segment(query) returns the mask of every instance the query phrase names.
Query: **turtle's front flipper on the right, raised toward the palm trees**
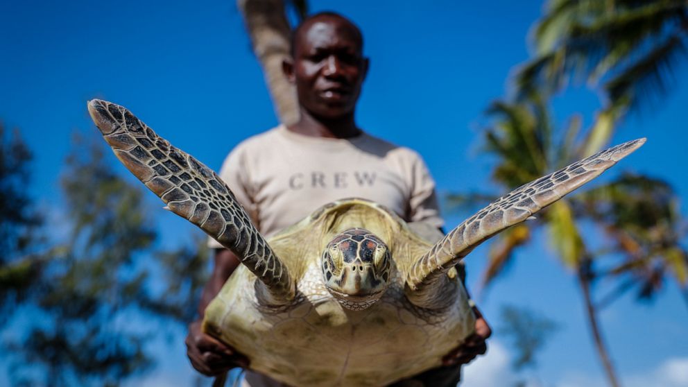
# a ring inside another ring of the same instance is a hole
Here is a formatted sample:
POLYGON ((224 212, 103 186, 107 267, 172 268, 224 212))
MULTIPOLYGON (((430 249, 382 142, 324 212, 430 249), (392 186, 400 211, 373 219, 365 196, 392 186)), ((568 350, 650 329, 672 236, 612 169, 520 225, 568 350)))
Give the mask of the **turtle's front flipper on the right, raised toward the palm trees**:
POLYGON ((420 307, 441 307, 445 275, 471 250, 494 234, 525 221, 567 193, 596 178, 634 150, 645 139, 614 146, 511 191, 481 209, 440 239, 409 270, 406 295, 420 307))

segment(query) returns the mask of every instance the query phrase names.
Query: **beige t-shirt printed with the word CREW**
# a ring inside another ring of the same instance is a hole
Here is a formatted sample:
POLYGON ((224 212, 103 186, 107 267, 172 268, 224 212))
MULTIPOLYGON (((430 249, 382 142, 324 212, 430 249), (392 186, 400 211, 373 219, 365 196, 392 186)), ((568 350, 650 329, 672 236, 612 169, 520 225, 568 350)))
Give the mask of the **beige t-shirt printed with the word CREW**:
POLYGON ((409 222, 442 226, 435 182, 420 155, 365 133, 328 139, 277 126, 236 146, 220 177, 265 236, 351 197, 380 203, 409 222))

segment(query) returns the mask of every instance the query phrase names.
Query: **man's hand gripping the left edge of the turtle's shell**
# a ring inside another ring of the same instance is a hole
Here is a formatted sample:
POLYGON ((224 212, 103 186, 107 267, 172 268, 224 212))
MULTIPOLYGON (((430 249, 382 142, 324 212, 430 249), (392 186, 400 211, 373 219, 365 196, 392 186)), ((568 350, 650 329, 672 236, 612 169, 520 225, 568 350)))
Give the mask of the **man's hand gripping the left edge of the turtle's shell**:
POLYGON ((231 368, 248 368, 246 356, 200 330, 200 321, 191 322, 186 341, 187 356, 193 368, 206 376, 222 375, 231 368))

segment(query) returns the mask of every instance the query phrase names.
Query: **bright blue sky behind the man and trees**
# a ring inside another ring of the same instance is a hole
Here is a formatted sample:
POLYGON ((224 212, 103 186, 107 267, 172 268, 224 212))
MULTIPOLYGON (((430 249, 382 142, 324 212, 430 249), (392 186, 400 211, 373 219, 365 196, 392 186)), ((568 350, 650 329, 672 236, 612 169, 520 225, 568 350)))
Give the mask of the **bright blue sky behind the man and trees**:
MULTIPOLYGON (((418 150, 441 192, 495 189, 489 180, 493 160, 477 151, 482 114, 506 94, 513 66, 528 58, 528 28, 542 3, 310 3, 313 11, 336 10, 351 17, 363 31, 371 68, 357 110, 359 125, 418 150)), ((277 123, 232 1, 3 1, 0 53, 0 119, 8 128, 19 128, 35 151, 31 191, 45 207, 60 204, 58 175, 71 133, 94 132, 86 112, 89 98, 125 105, 216 169, 235 144, 277 123)), ((686 69, 676 71, 676 87, 661 104, 623 123, 614 143, 637 137, 648 137, 648 142, 604 178, 624 169, 640 171, 669 180, 681 198, 688 195, 683 178, 688 166, 686 69)), ((596 95, 578 87, 556 99, 555 114, 563 121, 581 112, 588 125, 598 104, 596 95)), ((682 213, 688 214, 685 205, 682 213)), ((454 227, 461 218, 446 220, 447 227, 454 227)), ((191 230, 162 211, 160 227, 166 243, 175 243, 180 230, 191 230)), ((536 239, 547 245, 547 235, 536 239)), ((479 278, 487 248, 481 246, 467 259, 470 284, 479 278)), ((499 325, 499 309, 506 303, 542 311, 560 323, 540 354, 538 375, 548 386, 603 380, 574 277, 547 248, 519 252, 508 273, 482 293, 480 304, 492 325, 499 325)), ((623 298, 603 311, 601 322, 628 385, 642 386, 648 375, 673 377, 676 370, 678 379, 665 384, 688 384, 688 375, 680 371, 688 370, 688 309, 675 284, 666 286, 653 304, 623 298)), ((506 341, 496 334, 491 343, 488 356, 467 371, 472 385, 494 383, 485 375, 501 375, 501 381, 511 377, 506 341)), ((157 351, 166 356, 146 384, 190 383, 193 374, 181 338, 160 343, 157 351)), ((0 373, 3 383, 6 377, 0 373)))

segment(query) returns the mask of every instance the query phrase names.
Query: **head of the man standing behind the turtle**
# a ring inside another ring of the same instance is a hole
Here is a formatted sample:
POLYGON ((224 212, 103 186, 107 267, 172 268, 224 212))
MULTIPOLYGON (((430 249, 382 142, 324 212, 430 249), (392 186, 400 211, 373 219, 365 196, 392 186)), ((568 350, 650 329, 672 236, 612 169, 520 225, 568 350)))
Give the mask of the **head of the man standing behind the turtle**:
POLYGON ((291 53, 283 69, 302 109, 323 119, 354 112, 368 71, 358 27, 333 12, 310 16, 293 32, 291 53))

